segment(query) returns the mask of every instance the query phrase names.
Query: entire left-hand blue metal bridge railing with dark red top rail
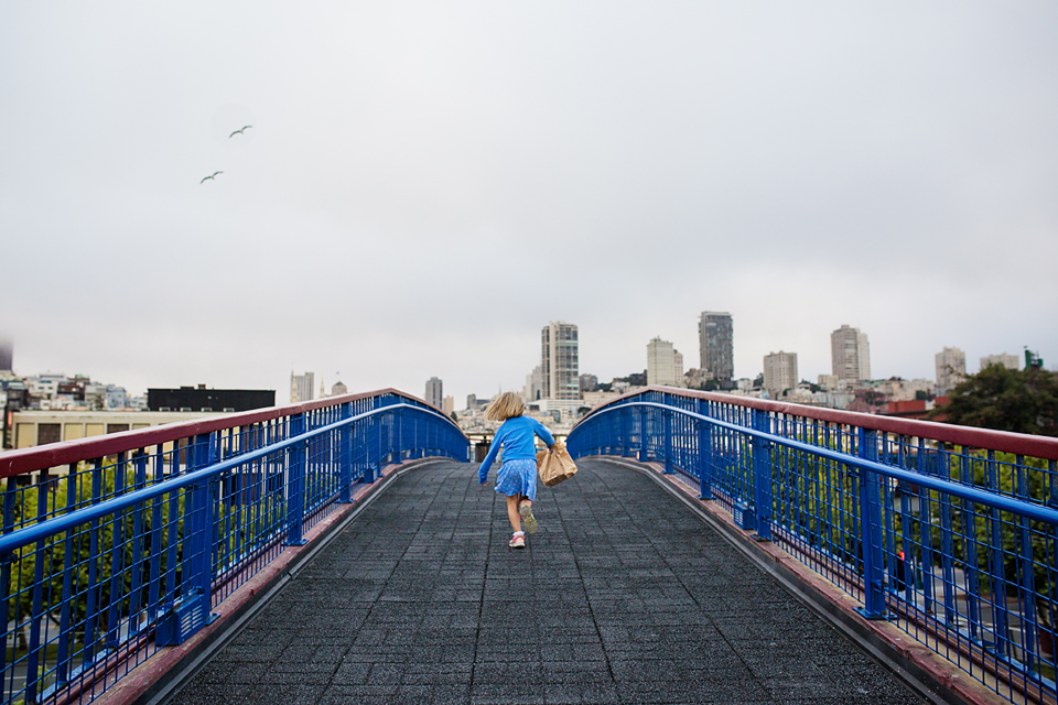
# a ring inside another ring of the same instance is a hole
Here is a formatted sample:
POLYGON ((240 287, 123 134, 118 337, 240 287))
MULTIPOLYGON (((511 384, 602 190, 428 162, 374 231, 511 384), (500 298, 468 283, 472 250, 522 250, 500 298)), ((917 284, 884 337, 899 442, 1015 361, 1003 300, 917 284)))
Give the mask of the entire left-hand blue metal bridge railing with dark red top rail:
POLYGON ((0 456, 0 702, 90 702, 386 465, 468 447, 387 390, 0 456))

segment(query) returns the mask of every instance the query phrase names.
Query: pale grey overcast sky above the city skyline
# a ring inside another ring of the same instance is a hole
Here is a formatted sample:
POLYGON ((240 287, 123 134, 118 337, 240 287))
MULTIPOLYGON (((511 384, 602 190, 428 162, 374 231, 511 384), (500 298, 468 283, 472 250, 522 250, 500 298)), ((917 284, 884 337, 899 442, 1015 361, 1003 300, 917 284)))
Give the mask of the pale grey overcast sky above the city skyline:
POLYGON ((0 4, 18 372, 462 408, 549 321, 697 366, 702 311, 737 377, 844 323, 876 378, 1058 362, 1052 0, 160 4, 0 4))

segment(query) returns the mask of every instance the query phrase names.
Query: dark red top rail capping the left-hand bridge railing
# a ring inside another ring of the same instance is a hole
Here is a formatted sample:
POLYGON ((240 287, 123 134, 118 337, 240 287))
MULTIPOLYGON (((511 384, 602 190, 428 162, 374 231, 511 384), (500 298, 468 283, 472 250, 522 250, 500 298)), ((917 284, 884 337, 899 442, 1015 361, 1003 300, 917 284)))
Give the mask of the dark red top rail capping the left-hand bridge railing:
MULTIPOLYGON (((341 397, 327 397, 299 404, 288 404, 285 406, 271 406, 268 409, 255 409, 253 411, 244 411, 223 416, 213 416, 209 419, 199 419, 194 421, 183 421, 179 423, 154 426, 151 429, 138 429, 136 431, 122 431, 104 436, 93 436, 89 438, 78 438, 76 441, 64 441, 61 443, 50 443, 47 445, 35 446, 32 448, 21 448, 0 454, 0 477, 11 477, 13 475, 23 475, 34 473, 42 468, 60 467, 79 460, 106 457, 136 451, 150 445, 171 443, 215 431, 226 429, 237 429, 239 426, 249 426, 256 423, 263 423, 274 419, 292 416, 316 409, 336 406, 360 399, 371 397, 382 397, 391 394, 402 397, 409 401, 415 402, 428 409, 438 412, 450 424, 458 429, 458 425, 449 416, 442 413, 435 406, 428 402, 412 397, 397 389, 387 388, 371 392, 361 392, 355 394, 342 394, 341 397)), ((462 431, 461 431, 462 433, 462 431)))

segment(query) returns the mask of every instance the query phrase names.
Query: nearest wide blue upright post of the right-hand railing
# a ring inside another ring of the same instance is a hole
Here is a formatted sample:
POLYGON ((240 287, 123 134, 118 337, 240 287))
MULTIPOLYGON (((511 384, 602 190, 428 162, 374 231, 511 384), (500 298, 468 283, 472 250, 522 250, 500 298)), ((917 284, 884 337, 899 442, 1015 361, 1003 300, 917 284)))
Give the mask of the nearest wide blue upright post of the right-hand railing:
MULTIPOLYGON (((865 460, 878 460, 878 432, 873 429, 859 429, 859 453, 865 460)), ((878 475, 860 468, 860 552, 863 554, 863 608, 861 615, 867 619, 885 619, 888 610, 885 606, 883 582, 885 570, 882 556, 882 497, 878 475)))

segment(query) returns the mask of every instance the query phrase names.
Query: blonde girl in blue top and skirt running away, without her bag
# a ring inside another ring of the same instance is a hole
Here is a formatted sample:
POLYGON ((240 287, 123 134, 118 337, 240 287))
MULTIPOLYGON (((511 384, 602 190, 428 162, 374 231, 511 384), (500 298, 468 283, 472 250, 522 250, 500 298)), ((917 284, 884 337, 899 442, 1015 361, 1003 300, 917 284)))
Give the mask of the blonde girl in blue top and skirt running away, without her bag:
POLYGON ((532 502, 537 498, 537 448, 533 436, 548 444, 554 445, 551 433, 543 424, 523 416, 526 404, 514 392, 504 392, 485 410, 485 417, 492 421, 503 421, 504 424, 496 431, 488 455, 477 471, 482 485, 488 480, 488 468, 493 466, 500 446, 504 448, 504 465, 496 473, 496 491, 507 496, 507 518, 515 534, 510 538, 511 549, 526 547, 526 533, 537 532, 537 520, 532 516, 532 502), (521 522, 526 528, 522 531, 521 522))

